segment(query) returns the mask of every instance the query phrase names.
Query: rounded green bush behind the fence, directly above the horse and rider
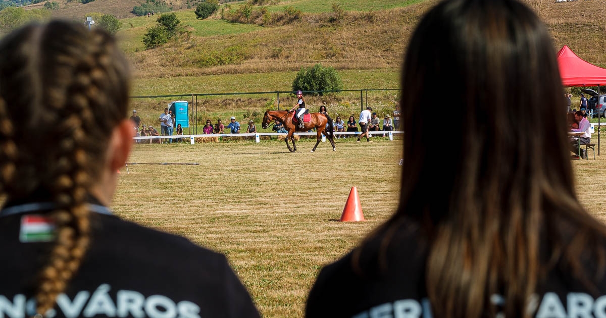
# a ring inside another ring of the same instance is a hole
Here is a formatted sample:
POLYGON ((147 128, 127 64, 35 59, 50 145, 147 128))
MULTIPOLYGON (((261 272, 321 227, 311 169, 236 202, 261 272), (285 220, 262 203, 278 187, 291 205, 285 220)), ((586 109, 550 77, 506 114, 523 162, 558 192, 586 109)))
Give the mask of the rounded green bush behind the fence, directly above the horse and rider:
MULTIPOLYGON (((302 67, 293 81, 294 90, 321 91, 341 90, 343 82, 335 68, 323 67, 322 64, 313 65, 311 68, 302 67)), ((323 93, 314 93, 322 95, 323 93)))

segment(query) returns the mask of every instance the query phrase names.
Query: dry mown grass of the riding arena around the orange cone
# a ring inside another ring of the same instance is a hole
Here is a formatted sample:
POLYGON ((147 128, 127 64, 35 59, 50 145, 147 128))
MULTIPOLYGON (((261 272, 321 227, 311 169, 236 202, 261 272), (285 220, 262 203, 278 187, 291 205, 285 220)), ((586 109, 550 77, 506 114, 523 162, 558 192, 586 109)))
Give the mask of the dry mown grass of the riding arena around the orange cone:
MULTIPOLYGON (((311 147, 312 140, 300 141, 298 153, 277 141, 136 145, 129 162, 138 164, 121 170, 113 209, 225 253, 264 317, 302 317, 322 265, 395 211, 405 169, 401 141, 339 140, 336 152, 326 142, 313 154, 311 147), (367 221, 337 222, 354 186, 367 221)), ((605 161, 573 162, 579 197, 602 221, 605 161)))

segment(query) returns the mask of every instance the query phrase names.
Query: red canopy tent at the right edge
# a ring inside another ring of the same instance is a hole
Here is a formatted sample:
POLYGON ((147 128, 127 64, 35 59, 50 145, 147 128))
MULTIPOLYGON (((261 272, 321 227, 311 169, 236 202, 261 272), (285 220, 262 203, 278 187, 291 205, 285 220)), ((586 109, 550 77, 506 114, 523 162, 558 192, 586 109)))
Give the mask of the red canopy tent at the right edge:
MULTIPOLYGON (((562 85, 565 87, 597 86, 599 96, 600 85, 606 84, 606 69, 583 61, 567 45, 558 52, 558 67, 562 85)), ((600 154, 600 124, 600 116, 598 116, 598 155, 600 154)))

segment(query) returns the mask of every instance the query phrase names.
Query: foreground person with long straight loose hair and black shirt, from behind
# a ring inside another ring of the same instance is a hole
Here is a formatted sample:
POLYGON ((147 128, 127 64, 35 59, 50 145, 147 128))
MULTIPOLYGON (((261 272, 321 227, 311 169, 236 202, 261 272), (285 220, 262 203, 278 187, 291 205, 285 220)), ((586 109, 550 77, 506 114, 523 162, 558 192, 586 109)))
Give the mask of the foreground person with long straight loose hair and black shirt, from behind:
POLYGON ((321 270, 306 317, 600 316, 606 227, 578 199, 545 24, 522 1, 444 0, 404 57, 399 207, 321 270), (422 105, 442 83, 456 111, 436 131, 422 105))

